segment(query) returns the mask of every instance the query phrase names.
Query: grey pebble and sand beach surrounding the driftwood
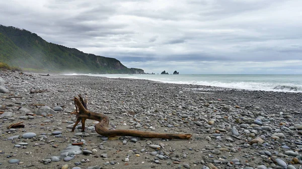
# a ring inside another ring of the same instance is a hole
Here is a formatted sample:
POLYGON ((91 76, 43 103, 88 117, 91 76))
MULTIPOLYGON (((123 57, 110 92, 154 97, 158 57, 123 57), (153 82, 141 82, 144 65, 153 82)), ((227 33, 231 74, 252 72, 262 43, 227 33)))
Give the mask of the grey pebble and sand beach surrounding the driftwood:
POLYGON ((0 98, 0 168, 302 168, 298 92, 0 71, 0 98), (192 138, 108 138, 90 119, 71 132, 79 94, 112 130, 192 138))

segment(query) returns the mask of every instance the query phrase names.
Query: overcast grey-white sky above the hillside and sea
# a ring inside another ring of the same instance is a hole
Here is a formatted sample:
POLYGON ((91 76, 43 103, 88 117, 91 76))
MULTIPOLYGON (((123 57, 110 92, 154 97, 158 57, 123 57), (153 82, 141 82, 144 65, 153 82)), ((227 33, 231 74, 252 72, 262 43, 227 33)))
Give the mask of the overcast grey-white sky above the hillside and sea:
POLYGON ((302 1, 0 1, 0 24, 147 73, 302 74, 302 1))

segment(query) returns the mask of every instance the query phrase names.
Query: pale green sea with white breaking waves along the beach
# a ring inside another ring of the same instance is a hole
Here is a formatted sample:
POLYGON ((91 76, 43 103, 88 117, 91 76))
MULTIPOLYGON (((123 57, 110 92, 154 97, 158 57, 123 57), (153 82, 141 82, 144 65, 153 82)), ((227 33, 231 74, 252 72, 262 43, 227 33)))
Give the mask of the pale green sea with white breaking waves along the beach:
POLYGON ((151 74, 66 74, 108 78, 146 79, 163 83, 194 84, 233 89, 302 92, 302 75, 151 75, 151 74))

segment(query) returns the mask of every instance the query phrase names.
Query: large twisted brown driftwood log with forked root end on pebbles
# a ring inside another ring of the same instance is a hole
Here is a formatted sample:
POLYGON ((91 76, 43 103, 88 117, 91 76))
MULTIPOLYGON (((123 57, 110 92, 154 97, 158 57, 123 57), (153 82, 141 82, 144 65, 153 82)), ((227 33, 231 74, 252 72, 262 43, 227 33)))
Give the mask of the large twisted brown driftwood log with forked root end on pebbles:
POLYGON ((167 139, 190 139, 192 134, 166 134, 166 133, 155 133, 147 131, 138 131, 138 130, 109 130, 109 118, 103 113, 95 113, 89 111, 87 108, 87 99, 83 99, 81 95, 74 97, 75 111, 71 114, 77 116, 77 121, 72 127, 72 132, 78 123, 82 122, 82 131, 85 131, 85 121, 86 119, 97 120, 98 124, 95 125, 95 130, 98 134, 108 137, 114 136, 133 136, 133 137, 142 137, 142 138, 167 138, 167 139))

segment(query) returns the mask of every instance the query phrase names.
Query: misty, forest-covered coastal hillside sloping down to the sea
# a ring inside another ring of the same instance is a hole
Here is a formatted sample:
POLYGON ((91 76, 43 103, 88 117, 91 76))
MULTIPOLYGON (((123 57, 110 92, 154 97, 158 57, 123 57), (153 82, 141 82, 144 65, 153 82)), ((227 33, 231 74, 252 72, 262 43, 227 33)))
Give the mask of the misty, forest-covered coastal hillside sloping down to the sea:
POLYGON ((11 66, 36 71, 144 74, 141 69, 125 67, 117 59, 48 43, 26 30, 0 25, 0 34, 0 59, 11 66))

